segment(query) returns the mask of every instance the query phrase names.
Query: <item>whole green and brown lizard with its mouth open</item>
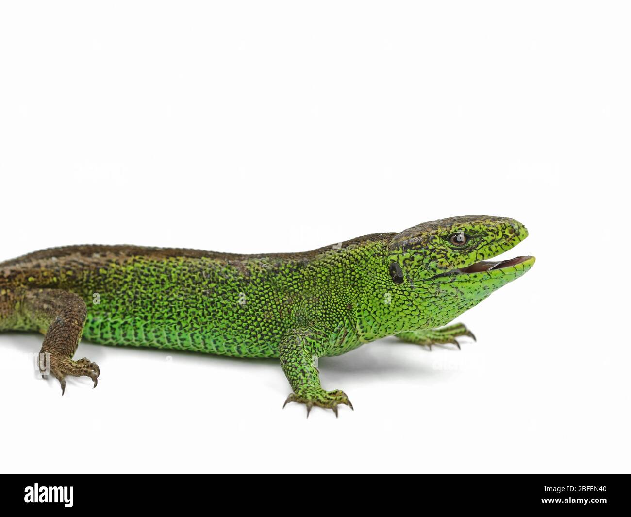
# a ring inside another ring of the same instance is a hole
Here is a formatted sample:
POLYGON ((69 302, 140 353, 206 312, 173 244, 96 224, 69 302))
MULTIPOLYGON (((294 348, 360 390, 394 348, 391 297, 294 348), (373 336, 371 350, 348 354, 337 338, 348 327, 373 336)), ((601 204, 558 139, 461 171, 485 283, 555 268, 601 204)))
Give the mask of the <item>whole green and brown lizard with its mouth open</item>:
POLYGON ((73 360, 81 336, 106 345, 274 357, 289 401, 352 408, 325 391, 317 358, 395 335, 421 345, 473 335, 439 328, 534 264, 490 262, 528 235, 503 217, 467 215, 373 234, 307 253, 240 255, 138 246, 67 246, 0 263, 0 331, 45 335, 40 368, 99 369, 73 360))

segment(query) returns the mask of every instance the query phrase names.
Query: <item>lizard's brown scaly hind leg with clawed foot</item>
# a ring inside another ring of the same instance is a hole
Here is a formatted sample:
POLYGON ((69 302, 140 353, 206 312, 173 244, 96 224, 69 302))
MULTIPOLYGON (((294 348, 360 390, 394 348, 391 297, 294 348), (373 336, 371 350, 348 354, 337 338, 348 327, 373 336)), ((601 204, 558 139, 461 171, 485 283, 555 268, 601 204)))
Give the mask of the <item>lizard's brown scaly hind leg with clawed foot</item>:
MULTIPOLYGON (((73 360, 81 340, 87 309, 77 294, 59 289, 29 290, 24 298, 24 311, 32 323, 45 334, 40 350, 40 371, 50 366, 50 373, 61 384, 61 395, 66 391, 66 377, 86 376, 97 387, 98 365, 90 360, 73 360), (50 354, 42 357, 42 354, 50 354)), ((44 376, 44 373, 42 373, 44 376)))

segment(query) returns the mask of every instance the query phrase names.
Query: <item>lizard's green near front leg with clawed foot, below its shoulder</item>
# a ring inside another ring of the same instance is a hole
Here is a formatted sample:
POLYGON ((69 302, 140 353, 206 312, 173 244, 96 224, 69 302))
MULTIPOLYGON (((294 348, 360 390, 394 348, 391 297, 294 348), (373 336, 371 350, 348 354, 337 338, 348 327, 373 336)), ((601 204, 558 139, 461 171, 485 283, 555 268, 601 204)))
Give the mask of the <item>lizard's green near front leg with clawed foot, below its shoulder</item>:
POLYGON ((280 365, 293 389, 293 393, 285 400, 285 405, 288 402, 305 404, 307 418, 314 406, 332 409, 336 417, 338 404, 346 404, 353 409, 346 393, 339 389, 324 391, 320 386, 315 362, 321 357, 325 338, 326 333, 313 326, 289 331, 280 343, 280 365))

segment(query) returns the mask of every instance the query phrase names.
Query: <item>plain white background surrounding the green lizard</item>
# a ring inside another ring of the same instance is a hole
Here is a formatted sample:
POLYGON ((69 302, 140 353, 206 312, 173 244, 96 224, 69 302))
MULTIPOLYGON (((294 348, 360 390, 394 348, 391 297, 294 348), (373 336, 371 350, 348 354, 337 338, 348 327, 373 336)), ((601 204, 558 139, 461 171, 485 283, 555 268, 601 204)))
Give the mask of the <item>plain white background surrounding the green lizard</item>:
POLYGON ((627 6, 3 2, 0 259, 306 251, 488 213, 537 263, 459 318, 462 352, 322 359, 338 420, 281 410, 273 360, 90 343, 98 388, 62 398, 42 336, 3 334, 1 470, 628 472, 627 6))

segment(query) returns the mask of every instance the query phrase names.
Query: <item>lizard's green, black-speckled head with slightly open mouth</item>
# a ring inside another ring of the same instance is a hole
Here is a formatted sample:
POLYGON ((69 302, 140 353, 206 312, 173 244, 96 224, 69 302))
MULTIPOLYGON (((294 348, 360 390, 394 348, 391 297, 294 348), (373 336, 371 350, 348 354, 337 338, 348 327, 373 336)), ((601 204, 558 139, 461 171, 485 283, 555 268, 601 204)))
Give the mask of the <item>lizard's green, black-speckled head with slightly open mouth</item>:
POLYGON ((431 221, 391 238, 387 267, 393 283, 422 295, 425 302, 440 302, 449 309, 451 321, 533 266, 532 256, 487 260, 526 237, 522 223, 505 217, 463 215, 431 221))

